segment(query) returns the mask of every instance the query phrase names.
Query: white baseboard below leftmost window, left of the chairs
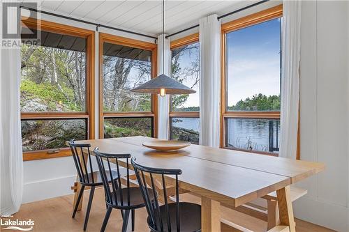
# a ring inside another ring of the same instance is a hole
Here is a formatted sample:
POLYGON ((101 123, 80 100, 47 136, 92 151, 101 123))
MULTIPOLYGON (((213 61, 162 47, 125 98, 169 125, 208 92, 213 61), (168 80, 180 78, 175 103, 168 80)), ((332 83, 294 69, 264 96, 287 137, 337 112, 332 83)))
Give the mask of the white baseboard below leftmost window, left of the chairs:
POLYGON ((73 185, 75 180, 76 176, 73 175, 25 183, 22 203, 41 201, 57 196, 73 194, 73 190, 70 190, 70 186, 73 185))

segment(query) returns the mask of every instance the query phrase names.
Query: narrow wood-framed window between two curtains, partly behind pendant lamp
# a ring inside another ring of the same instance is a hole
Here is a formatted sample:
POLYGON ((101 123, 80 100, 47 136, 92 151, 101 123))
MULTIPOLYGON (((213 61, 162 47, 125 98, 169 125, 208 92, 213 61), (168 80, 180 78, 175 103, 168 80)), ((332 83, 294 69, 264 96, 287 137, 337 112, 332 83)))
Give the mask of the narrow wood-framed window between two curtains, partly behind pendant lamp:
POLYGON ((170 139, 199 143, 200 44, 198 33, 171 42, 171 77, 193 88, 196 93, 172 95, 170 139))

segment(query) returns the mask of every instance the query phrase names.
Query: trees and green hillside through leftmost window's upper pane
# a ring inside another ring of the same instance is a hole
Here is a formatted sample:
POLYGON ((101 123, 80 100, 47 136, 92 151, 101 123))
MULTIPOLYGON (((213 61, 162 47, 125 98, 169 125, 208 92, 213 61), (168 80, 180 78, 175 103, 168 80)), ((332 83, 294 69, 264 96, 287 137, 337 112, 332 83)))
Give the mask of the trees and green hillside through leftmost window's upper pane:
POLYGON ((36 111, 34 99, 47 111, 84 111, 85 63, 85 52, 22 45, 22 106, 36 111))

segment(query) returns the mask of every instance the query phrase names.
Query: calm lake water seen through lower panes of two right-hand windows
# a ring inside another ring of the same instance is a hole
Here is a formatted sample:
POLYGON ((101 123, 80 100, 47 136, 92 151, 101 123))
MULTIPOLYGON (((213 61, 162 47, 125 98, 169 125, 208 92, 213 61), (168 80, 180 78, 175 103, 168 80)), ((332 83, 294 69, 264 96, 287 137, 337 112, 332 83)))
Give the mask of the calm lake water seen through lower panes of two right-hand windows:
MULTIPOLYGON (((272 121, 273 147, 279 147, 280 121, 269 119, 251 118, 228 118, 225 122, 227 127, 228 146, 236 148, 269 150, 269 122, 272 121)), ((173 118, 174 127, 182 127, 189 130, 199 131, 199 118, 173 118)))

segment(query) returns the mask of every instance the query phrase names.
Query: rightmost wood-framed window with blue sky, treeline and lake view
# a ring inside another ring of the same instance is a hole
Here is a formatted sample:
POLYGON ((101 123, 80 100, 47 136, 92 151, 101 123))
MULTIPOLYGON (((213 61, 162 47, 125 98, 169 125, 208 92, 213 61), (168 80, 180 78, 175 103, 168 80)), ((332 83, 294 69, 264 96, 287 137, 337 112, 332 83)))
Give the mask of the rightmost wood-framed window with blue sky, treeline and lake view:
POLYGON ((222 25, 223 147, 277 155, 282 6, 222 25))

